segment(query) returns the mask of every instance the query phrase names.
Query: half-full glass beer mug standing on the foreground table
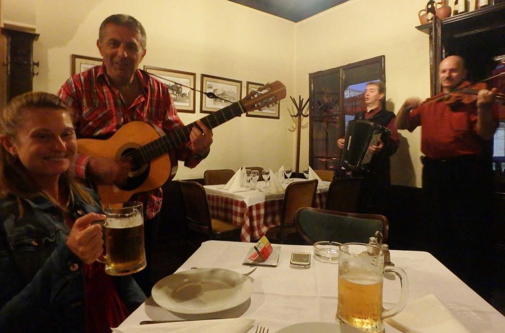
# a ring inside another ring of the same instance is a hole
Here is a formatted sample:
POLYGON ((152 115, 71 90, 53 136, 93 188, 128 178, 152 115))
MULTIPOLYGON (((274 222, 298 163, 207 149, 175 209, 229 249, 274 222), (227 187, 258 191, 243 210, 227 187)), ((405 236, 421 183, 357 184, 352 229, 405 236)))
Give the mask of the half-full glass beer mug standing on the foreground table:
POLYGON ((392 266, 384 268, 384 253, 379 247, 360 243, 339 247, 337 321, 366 332, 383 332, 382 319, 403 310, 408 289, 405 271, 392 266), (399 302, 388 310, 382 307, 384 274, 398 276, 401 285, 399 302))

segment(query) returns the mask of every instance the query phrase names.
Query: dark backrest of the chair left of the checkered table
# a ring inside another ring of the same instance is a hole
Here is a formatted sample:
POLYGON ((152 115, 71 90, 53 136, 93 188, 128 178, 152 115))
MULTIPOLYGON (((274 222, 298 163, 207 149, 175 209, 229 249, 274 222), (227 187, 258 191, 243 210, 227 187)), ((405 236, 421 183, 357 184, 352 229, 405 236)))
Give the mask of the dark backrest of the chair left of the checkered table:
POLYGON ((181 186, 186 217, 193 229, 212 236, 212 219, 205 188, 196 181, 177 181, 181 186))

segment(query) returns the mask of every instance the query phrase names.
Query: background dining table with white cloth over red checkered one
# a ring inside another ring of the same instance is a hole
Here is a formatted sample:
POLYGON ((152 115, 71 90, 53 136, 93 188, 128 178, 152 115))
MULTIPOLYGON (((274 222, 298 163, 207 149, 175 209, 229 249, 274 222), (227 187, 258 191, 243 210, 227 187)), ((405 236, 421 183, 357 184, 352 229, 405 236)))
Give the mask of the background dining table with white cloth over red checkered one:
MULTIPOLYGON (((304 181, 304 178, 291 178, 282 184, 285 189, 291 182, 304 181)), ((321 181, 314 199, 315 208, 324 208, 328 196, 329 181, 321 181)), ((268 229, 279 225, 282 214, 284 192, 269 193, 265 181, 258 181, 256 189, 243 188, 232 192, 225 185, 205 185, 207 201, 213 218, 219 218, 240 226, 242 242, 255 242, 264 236, 268 229)))

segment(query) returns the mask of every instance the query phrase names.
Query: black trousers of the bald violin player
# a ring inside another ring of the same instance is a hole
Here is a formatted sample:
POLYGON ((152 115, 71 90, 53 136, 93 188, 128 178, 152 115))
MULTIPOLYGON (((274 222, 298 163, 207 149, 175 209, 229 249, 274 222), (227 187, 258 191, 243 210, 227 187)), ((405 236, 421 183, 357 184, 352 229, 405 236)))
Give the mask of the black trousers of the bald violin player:
POLYGON ((491 249, 493 182, 490 158, 426 157, 423 193, 426 249, 479 292, 491 249))

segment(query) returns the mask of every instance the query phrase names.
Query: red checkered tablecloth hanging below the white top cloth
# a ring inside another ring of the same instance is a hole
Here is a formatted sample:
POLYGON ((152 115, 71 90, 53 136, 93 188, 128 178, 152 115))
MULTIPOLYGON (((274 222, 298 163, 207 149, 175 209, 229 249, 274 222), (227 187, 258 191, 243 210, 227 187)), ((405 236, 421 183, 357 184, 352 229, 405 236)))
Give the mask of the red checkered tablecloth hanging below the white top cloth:
MULTIPOLYGON (((316 194, 314 207, 324 208, 328 192, 316 194)), ((267 230, 279 225, 282 200, 269 200, 247 206, 245 202, 219 195, 207 195, 211 216, 242 227, 242 242, 259 240, 267 230)))

